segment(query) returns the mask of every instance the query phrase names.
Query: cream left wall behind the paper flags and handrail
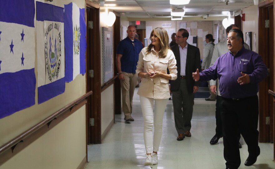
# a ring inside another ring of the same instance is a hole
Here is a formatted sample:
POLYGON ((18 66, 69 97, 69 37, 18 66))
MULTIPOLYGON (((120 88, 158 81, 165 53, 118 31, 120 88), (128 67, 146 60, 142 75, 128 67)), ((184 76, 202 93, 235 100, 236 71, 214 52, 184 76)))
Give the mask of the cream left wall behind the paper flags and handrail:
MULTIPOLYGON (((64 4, 72 2, 72 0, 55 0, 53 2, 48 2, 46 0, 39 1, 60 7, 64 7, 64 4)), ((85 0, 73 0, 73 2, 75 2, 78 7, 85 8, 85 0)), ((35 32, 37 32, 36 28, 35 32)), ((35 72, 37 79, 37 56, 35 61, 35 72)), ((85 93, 86 75, 78 75, 75 80, 66 83, 65 92, 63 94, 42 104, 37 104, 36 86, 35 105, 0 119, 0 145, 5 144, 85 93)), ((48 133, 0 166, 0 169, 68 169, 72 166, 76 168, 86 156, 85 116, 86 109, 85 106, 83 106, 75 114, 63 120, 48 133)))

